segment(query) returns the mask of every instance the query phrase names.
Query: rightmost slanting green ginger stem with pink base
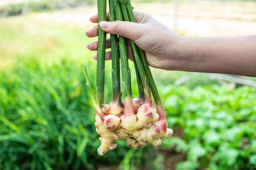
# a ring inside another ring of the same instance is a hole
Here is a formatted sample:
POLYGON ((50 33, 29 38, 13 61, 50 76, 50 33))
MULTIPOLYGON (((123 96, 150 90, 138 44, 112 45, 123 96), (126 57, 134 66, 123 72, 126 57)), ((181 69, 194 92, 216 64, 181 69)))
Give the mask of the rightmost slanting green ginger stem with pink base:
MULTIPOLYGON (((126 9, 128 11, 129 20, 131 22, 136 22, 134 14, 133 14, 133 10, 132 10, 131 1, 130 0, 125 0, 125 2, 126 2, 126 9)), ((158 90, 156 88, 156 84, 154 82, 154 78, 153 78, 152 73, 150 71, 150 68, 148 66, 148 61, 146 59, 146 55, 145 55, 144 51, 142 49, 140 49, 139 47, 138 47, 138 51, 140 53, 142 65, 143 65, 143 68, 145 70, 146 77, 148 79, 148 83, 149 83, 150 90, 152 92, 152 96, 154 98, 154 101, 156 102, 156 105, 158 105, 160 108, 162 108, 161 111, 160 110, 158 111, 159 116, 160 116, 159 119, 160 120, 166 119, 166 114, 165 114, 165 111, 164 111, 164 107, 163 107, 160 95, 158 93, 158 90)))

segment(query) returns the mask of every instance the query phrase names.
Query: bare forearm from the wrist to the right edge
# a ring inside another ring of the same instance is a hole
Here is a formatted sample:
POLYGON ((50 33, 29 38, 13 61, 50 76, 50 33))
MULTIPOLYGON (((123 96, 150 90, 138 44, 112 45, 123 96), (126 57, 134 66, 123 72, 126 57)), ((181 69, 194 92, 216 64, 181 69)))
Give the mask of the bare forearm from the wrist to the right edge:
POLYGON ((177 44, 170 69, 256 76, 256 35, 188 38, 177 44))

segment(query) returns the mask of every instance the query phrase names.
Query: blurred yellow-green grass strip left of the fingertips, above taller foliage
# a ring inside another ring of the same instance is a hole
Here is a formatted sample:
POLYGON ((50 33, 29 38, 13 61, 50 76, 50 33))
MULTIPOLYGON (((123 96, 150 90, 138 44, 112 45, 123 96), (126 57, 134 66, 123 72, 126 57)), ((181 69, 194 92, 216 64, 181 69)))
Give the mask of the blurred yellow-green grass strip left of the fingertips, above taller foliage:
POLYGON ((14 63, 16 57, 39 58, 44 62, 58 61, 60 57, 85 61, 86 57, 93 54, 85 48, 90 42, 84 35, 85 29, 42 23, 37 25, 37 22, 32 21, 20 24, 11 21, 2 21, 0 24, 0 56, 4 59, 14 59, 14 63))

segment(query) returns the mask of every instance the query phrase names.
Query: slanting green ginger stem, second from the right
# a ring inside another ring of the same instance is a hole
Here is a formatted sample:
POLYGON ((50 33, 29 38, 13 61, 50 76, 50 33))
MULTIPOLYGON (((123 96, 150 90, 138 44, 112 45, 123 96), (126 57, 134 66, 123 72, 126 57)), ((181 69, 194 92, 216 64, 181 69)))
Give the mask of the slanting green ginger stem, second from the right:
MULTIPOLYGON (((130 21, 129 17, 128 17, 127 10, 126 10, 126 3, 122 1, 121 5, 122 5, 122 12, 123 12, 123 15, 124 15, 124 20, 125 21, 130 21)), ((133 57, 133 61, 134 61, 134 67, 135 67, 135 70, 137 69, 136 70, 136 75, 138 75, 141 78, 140 81, 143 85, 143 88, 145 88, 146 91, 148 92, 148 94, 150 94, 150 88, 149 88, 149 85, 148 85, 148 80, 146 78, 146 74, 144 72, 142 62, 140 60, 140 54, 139 54, 139 51, 138 51, 138 47, 134 43, 134 41, 132 41, 131 39, 130 39, 130 44, 131 44, 132 52, 133 52, 132 57, 133 57)), ((148 96, 148 95, 146 95, 146 96, 148 96)))

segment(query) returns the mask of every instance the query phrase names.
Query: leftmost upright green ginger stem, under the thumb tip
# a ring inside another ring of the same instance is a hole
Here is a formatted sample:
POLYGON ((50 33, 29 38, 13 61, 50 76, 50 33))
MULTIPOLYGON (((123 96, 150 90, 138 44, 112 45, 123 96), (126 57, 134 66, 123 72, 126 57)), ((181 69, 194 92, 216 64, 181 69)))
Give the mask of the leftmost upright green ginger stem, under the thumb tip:
MULTIPOLYGON (((97 0, 98 23, 106 21, 106 0, 97 0)), ((98 27, 96 103, 99 107, 104 103, 106 32, 98 27)))

